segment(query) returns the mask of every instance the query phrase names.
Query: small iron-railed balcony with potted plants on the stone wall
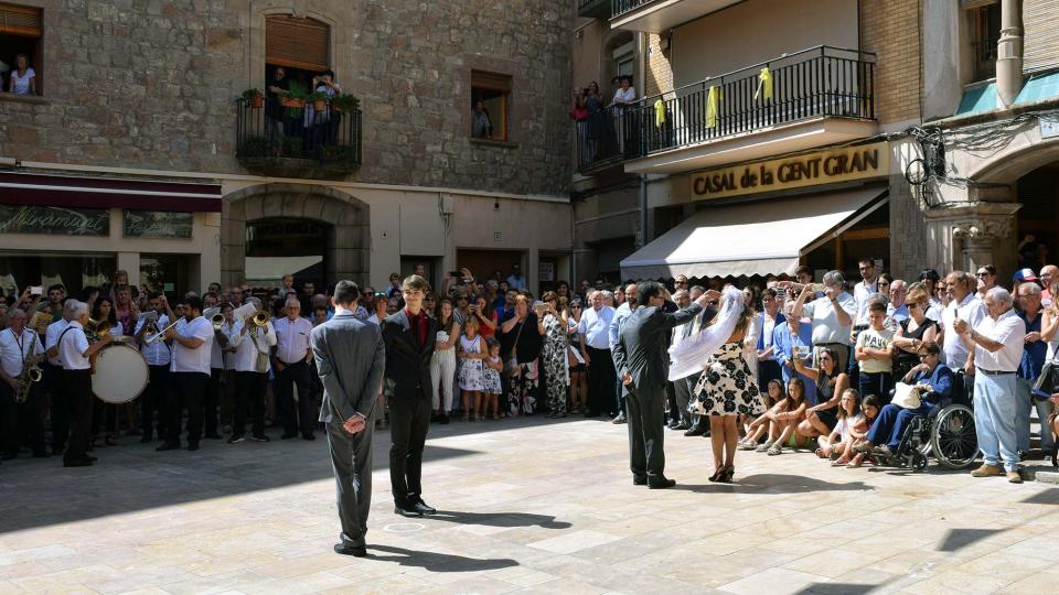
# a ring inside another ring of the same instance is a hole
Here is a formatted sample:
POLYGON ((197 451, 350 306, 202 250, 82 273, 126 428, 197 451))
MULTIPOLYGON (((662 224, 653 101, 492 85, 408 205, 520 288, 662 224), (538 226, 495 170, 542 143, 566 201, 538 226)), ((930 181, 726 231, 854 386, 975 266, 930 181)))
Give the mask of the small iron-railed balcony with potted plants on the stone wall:
POLYGON ((235 156, 244 167, 278 177, 332 178, 361 165, 360 109, 330 101, 286 104, 236 101, 235 156))

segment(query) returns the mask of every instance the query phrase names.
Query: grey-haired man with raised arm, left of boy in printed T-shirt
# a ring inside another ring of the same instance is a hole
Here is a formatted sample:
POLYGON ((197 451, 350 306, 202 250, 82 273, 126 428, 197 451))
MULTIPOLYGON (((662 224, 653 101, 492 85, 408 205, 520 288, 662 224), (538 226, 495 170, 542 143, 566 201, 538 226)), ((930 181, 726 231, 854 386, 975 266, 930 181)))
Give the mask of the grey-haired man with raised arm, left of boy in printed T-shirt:
POLYGON ((857 314, 857 302, 845 291, 846 279, 841 271, 827 271, 824 274, 824 296, 805 303, 813 294, 811 285, 784 281, 783 286, 801 290, 791 315, 813 321, 813 360, 823 349, 833 349, 838 354, 838 370, 849 367, 849 337, 853 317, 857 314))

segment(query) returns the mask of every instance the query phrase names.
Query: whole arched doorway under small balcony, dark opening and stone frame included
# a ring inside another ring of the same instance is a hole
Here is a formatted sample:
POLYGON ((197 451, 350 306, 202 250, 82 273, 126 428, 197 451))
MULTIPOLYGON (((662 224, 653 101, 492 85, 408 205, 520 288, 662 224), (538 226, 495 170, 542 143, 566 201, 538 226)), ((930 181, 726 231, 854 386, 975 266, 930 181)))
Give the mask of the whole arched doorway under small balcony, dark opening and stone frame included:
POLYGON ((284 274, 318 288, 340 279, 367 282, 370 213, 356 197, 325 186, 261 184, 225 196, 225 283, 271 283, 284 274))

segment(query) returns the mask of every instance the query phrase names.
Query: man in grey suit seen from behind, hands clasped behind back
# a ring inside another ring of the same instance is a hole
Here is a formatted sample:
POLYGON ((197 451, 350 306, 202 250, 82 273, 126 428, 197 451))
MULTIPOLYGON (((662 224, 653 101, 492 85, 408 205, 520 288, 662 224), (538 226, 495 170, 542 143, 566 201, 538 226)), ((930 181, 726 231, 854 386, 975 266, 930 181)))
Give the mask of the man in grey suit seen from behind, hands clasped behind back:
POLYGON ((334 551, 364 558, 372 507, 372 434, 386 348, 378 326, 354 316, 360 294, 356 283, 339 281, 331 299, 334 316, 313 328, 310 338, 323 383, 320 421, 328 429, 342 522, 334 551))

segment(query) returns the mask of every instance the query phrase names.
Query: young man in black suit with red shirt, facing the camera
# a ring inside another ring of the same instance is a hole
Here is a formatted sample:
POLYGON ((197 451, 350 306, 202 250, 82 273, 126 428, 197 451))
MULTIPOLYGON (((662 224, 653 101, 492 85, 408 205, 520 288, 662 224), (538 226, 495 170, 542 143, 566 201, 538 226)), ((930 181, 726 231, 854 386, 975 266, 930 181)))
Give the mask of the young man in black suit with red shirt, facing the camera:
POLYGON ((430 426, 430 358, 438 323, 422 310, 427 282, 418 274, 402 282, 405 309, 383 321, 386 374, 383 392, 389 404, 389 483, 394 512, 421 517, 437 512, 422 501, 422 450, 430 426))

